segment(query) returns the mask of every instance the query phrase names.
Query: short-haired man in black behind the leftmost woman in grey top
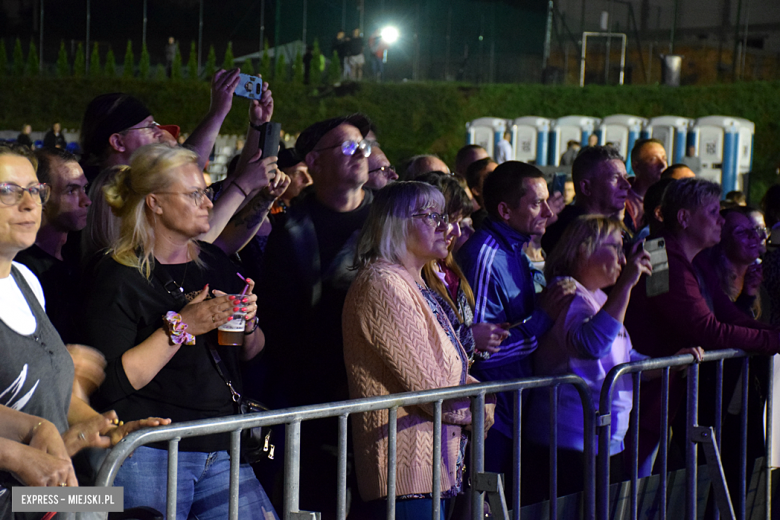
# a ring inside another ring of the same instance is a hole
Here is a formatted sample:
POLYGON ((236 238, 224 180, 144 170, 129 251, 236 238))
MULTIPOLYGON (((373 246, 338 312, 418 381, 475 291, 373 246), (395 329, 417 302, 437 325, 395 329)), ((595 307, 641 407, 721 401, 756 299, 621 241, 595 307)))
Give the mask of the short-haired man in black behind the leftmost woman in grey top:
POLYGON ((43 206, 35 244, 16 260, 35 273, 46 297, 46 314, 65 343, 77 343, 76 312, 79 305, 78 234, 87 223, 87 178, 76 157, 60 148, 35 151, 38 180, 51 195, 43 206), (72 240, 69 240, 72 239, 72 240))

